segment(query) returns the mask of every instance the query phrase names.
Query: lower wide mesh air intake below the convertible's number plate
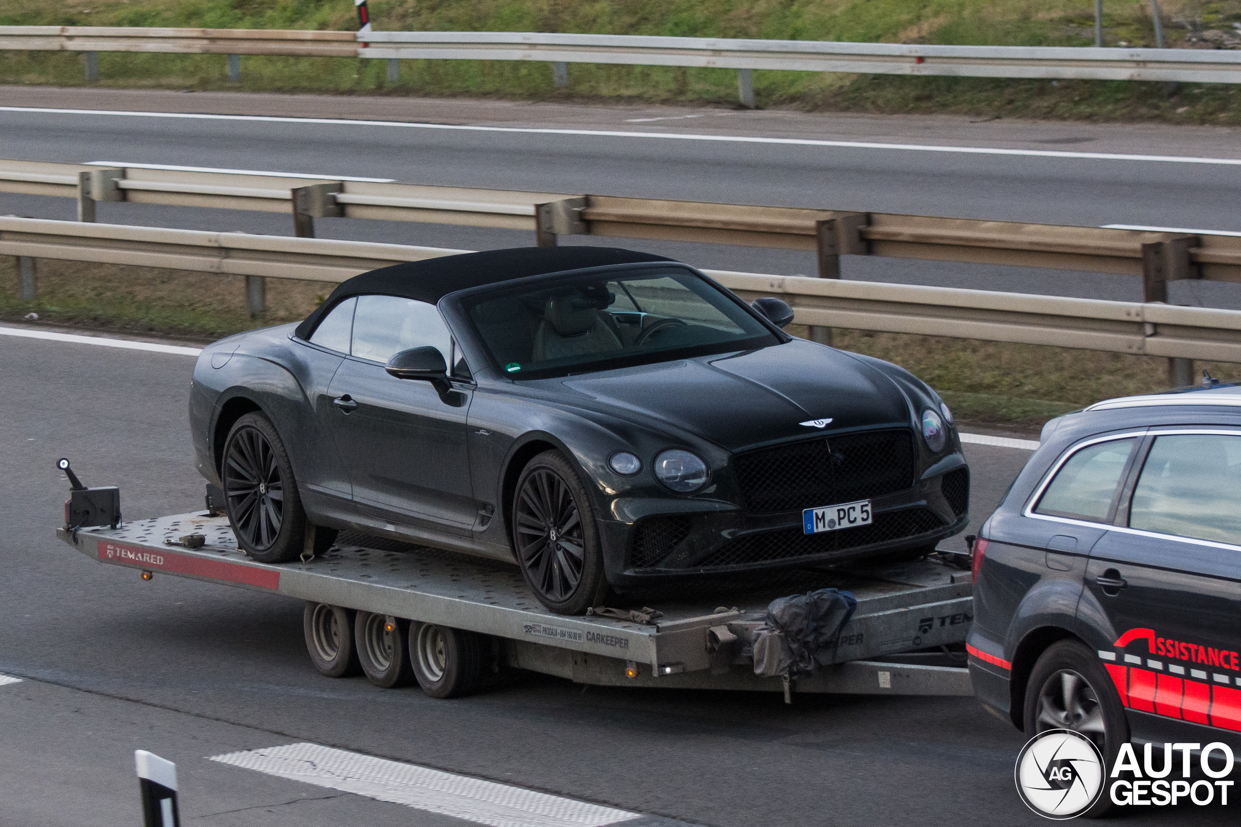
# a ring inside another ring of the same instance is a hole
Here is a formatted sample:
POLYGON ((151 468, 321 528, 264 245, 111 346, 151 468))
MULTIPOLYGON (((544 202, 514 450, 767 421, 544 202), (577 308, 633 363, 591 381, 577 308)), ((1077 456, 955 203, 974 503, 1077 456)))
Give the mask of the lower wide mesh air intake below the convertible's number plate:
POLYGON ((875 515, 869 526, 829 531, 818 534, 805 534, 799 528, 782 528, 761 534, 740 537, 726 543, 720 551, 711 553, 695 565, 740 565, 742 563, 763 563, 767 560, 786 560, 810 554, 825 554, 850 548, 861 548, 872 543, 885 543, 906 537, 926 534, 943 527, 933 511, 927 508, 905 508, 875 515))

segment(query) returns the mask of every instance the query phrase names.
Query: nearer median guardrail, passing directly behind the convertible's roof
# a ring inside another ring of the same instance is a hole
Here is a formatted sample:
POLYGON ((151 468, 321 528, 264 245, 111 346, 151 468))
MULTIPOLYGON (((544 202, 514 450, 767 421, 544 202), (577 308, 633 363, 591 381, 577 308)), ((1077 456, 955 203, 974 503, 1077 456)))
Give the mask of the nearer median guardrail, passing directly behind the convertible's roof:
MULTIPOLYGON (((340 281, 465 250, 0 218, 0 255, 340 281)), ((1241 362, 1241 311, 706 270, 751 299, 783 298, 803 325, 1241 362)), ((253 284, 251 284, 253 295, 253 284)))

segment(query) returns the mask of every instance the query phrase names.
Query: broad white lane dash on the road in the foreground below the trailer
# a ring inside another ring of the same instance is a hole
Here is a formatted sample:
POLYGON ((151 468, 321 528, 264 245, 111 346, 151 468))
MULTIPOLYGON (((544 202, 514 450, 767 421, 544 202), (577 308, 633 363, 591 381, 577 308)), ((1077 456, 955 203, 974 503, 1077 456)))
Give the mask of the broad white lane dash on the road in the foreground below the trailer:
POLYGON ((490 827, 602 827, 640 817, 624 810, 318 744, 271 746, 215 755, 210 760, 490 827))

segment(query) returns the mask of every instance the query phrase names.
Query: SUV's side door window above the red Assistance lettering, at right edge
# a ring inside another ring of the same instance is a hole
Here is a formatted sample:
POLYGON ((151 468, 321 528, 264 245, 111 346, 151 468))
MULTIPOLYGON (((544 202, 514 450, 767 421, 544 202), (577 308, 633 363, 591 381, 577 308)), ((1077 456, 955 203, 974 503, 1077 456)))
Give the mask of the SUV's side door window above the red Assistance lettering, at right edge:
POLYGON ((1241 435, 1157 436, 1129 528, 1241 546, 1241 435))

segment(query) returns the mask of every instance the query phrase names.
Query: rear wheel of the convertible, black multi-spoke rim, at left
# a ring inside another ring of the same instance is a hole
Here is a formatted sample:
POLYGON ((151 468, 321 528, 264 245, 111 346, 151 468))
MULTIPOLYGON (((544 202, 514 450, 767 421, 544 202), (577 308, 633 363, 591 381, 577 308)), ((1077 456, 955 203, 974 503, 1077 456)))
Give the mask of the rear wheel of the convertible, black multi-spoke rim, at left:
POLYGON ((259 563, 297 559, 307 515, 293 464, 272 422, 252 412, 233 423, 221 465, 225 507, 237 546, 259 563))

